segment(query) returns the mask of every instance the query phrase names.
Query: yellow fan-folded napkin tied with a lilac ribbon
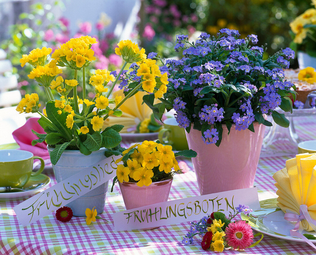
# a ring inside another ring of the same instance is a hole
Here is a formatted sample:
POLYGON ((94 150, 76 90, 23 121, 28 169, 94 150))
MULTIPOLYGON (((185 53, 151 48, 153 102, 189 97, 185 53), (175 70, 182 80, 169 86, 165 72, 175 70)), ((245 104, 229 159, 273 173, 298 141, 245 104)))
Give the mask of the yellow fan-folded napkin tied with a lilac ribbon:
MULTIPOLYGON (((307 205, 308 214, 316 220, 316 153, 298 154, 286 161, 285 168, 273 175, 277 187, 277 206, 286 213, 300 215, 300 205, 307 205)), ((313 231, 306 219, 300 221, 300 228, 313 231)))

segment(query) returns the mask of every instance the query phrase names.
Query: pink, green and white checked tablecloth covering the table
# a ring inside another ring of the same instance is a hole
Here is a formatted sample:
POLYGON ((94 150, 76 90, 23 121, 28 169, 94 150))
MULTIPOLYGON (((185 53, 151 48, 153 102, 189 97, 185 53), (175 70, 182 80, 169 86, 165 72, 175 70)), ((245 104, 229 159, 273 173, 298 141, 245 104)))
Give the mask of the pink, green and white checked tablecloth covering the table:
MULTIPOLYGON (((297 117, 295 124, 302 140, 316 139, 316 120, 313 116, 297 117)), ((276 197, 272 175, 284 167, 288 158, 275 157, 272 151, 270 157, 260 158, 255 179, 260 200, 276 197)), ((185 162, 191 170, 175 176, 169 200, 199 195, 191 161, 185 162)), ((48 175, 52 178, 51 185, 55 184, 52 172, 48 175)), ((219 175, 216 178, 224 177, 219 175)), ((108 223, 97 220, 87 226, 84 217, 73 217, 70 222, 62 223, 50 214, 23 228, 12 210, 13 206, 22 201, 0 201, 1 255, 207 254, 198 242, 192 246, 181 244, 181 237, 187 232, 189 222, 147 231, 114 232, 112 215, 125 210, 118 185, 114 187, 113 193, 107 193, 105 212, 101 215, 109 220, 108 223)), ((316 251, 310 246, 292 244, 265 235, 258 246, 246 252, 225 250, 223 254, 306 255, 316 254, 316 251)))

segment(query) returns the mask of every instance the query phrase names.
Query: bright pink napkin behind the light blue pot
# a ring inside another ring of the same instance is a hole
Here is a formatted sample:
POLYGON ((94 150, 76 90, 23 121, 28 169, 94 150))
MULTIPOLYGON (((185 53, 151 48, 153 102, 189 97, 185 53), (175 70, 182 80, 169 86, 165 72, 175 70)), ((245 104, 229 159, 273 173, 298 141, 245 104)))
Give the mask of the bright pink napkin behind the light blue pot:
POLYGON ((38 156, 45 159, 49 159, 49 154, 47 151, 46 142, 37 143, 32 146, 32 141, 38 139, 38 137, 33 134, 32 129, 40 134, 44 134, 44 129, 37 122, 39 118, 29 118, 26 123, 12 132, 13 138, 16 143, 20 145, 20 150, 30 151, 34 156, 38 156))

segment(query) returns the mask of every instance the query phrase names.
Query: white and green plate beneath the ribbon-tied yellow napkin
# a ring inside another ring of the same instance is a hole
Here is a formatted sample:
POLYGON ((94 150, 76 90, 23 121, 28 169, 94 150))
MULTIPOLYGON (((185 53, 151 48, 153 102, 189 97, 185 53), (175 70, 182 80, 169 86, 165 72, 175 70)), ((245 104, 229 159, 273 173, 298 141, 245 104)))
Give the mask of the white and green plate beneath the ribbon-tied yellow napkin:
MULTIPOLYGON (((249 216, 241 214, 241 219, 246 220, 252 229, 267 234, 287 242, 308 245, 304 240, 298 237, 292 237, 290 230, 294 228, 294 223, 284 219, 284 212, 276 206, 276 199, 260 201, 261 210, 252 212, 249 216), (257 218, 258 217, 258 218, 257 218)), ((312 234, 316 236, 315 231, 305 231, 302 234, 312 234)), ((310 240, 316 244, 316 240, 310 240)))

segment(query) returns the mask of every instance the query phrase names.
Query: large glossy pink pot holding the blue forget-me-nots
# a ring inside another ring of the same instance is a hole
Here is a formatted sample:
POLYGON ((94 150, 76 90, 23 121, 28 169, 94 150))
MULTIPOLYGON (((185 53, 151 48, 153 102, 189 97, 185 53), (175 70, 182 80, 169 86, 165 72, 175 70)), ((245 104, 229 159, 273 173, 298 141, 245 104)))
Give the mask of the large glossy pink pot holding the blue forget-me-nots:
POLYGON ((201 131, 192 127, 186 133, 189 148, 197 152, 192 163, 201 195, 253 187, 265 129, 258 122, 253 126, 255 133, 235 130, 233 125, 228 135, 226 125, 222 125, 219 147, 204 144, 201 131))

